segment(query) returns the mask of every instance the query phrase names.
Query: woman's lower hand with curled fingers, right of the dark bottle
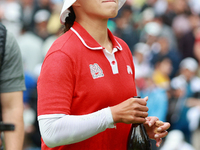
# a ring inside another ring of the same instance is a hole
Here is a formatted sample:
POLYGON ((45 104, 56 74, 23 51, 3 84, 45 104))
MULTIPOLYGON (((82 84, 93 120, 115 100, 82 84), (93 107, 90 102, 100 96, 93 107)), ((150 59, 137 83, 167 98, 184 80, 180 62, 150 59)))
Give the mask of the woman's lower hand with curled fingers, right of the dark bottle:
POLYGON ((156 121, 159 121, 157 117, 147 117, 144 126, 149 138, 156 140, 156 146, 159 147, 162 138, 168 134, 166 130, 169 129, 170 124, 168 122, 163 122, 158 126, 156 125, 156 121))

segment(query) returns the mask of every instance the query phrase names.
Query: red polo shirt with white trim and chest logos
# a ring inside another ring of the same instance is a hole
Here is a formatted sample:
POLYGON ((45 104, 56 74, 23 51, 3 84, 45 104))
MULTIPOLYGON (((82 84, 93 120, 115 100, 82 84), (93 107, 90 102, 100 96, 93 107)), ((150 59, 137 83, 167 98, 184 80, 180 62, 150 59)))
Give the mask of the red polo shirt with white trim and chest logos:
MULTIPOLYGON (((48 51, 38 79, 38 115, 83 115, 136 95, 134 65, 127 44, 114 37, 108 53, 77 22, 48 51)), ((118 123, 75 144, 42 150, 125 150, 130 125, 118 123)))

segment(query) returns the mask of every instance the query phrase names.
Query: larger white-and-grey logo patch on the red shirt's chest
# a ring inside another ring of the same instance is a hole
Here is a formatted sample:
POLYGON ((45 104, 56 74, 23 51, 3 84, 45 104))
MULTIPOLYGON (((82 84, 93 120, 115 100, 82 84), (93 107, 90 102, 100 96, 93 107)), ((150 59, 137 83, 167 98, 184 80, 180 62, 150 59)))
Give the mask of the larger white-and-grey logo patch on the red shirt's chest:
POLYGON ((94 63, 93 65, 90 65, 90 72, 92 74, 93 79, 103 77, 103 70, 99 67, 97 63, 94 63))

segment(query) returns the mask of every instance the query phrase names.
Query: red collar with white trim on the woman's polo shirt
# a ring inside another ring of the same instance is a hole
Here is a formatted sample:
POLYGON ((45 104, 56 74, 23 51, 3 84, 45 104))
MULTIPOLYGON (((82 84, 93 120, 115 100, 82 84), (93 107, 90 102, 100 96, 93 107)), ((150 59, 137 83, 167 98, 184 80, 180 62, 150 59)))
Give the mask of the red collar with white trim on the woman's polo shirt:
MULTIPOLYGON (((104 49, 79 23, 76 21, 74 22, 74 25, 70 28, 81 40, 83 45, 85 45, 87 48, 91 50, 101 50, 104 49)), ((118 50, 122 50, 121 45, 116 40, 112 32, 108 29, 108 36, 110 37, 110 40, 112 41, 113 48, 117 48, 118 50)))

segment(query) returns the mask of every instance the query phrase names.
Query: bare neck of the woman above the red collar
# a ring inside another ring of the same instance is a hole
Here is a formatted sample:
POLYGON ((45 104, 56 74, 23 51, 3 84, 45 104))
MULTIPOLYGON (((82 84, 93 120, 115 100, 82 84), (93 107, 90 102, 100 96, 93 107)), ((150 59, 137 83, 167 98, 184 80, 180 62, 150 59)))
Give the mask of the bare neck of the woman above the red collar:
POLYGON ((102 46, 112 52, 112 42, 108 37, 107 19, 79 19, 76 21, 102 46))

